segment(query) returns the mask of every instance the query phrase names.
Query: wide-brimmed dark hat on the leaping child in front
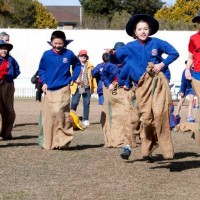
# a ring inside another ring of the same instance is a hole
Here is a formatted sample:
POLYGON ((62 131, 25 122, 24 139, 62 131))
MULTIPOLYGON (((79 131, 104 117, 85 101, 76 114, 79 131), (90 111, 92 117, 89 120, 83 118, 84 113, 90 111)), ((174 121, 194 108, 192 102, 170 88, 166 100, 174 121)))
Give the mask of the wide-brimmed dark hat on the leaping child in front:
POLYGON ((128 23, 126 24, 126 33, 133 37, 135 36, 133 27, 140 21, 140 20, 145 20, 145 21, 149 21, 151 23, 151 32, 149 35, 153 35, 155 34, 158 29, 159 29, 159 23, 156 19, 154 19, 152 16, 147 15, 147 14, 138 14, 138 15, 134 15, 132 16, 128 23))

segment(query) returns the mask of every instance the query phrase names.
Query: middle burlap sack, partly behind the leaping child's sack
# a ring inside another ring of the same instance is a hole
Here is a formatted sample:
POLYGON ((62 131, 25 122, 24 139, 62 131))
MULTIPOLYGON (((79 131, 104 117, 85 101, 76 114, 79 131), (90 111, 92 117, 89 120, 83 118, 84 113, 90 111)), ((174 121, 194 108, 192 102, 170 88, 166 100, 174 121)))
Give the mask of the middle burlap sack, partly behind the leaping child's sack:
POLYGON ((138 115, 132 104, 131 91, 117 87, 115 92, 109 92, 104 87, 104 105, 101 114, 101 124, 104 133, 104 147, 136 146, 135 127, 138 127, 138 115), (131 100, 130 100, 131 99, 131 100), (136 115, 136 118, 132 118, 136 115), (136 121, 136 122, 135 122, 136 121))

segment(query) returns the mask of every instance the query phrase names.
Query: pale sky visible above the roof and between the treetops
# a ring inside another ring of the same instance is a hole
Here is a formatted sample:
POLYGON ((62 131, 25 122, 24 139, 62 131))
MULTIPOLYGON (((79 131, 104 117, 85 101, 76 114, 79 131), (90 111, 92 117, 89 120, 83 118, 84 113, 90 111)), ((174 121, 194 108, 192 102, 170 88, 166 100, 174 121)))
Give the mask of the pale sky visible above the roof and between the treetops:
MULTIPOLYGON (((167 5, 173 5, 176 0, 162 0, 167 5)), ((79 0, 39 0, 40 3, 47 6, 80 6, 79 0)))

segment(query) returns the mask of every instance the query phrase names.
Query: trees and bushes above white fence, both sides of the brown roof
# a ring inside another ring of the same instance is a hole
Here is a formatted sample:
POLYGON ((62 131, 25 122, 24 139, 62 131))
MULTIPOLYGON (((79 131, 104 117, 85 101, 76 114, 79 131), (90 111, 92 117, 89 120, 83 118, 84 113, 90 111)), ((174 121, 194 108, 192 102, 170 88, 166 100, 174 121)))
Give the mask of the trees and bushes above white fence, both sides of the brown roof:
MULTIPOLYGON (((133 14, 149 14, 161 30, 194 30, 192 18, 200 0, 176 0, 168 6, 162 0, 79 0, 82 24, 77 28, 124 29, 133 14)), ((58 22, 38 0, 0 0, 1 28, 56 28, 58 22)))

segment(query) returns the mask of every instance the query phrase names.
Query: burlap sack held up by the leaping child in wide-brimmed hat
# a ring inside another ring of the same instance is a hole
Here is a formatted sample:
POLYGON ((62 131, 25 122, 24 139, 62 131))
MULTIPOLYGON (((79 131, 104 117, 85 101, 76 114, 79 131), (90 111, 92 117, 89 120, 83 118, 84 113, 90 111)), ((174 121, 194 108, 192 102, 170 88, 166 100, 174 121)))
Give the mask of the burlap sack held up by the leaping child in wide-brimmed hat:
POLYGON ((159 145, 163 157, 172 159, 174 150, 169 124, 171 104, 169 82, 162 72, 152 73, 152 68, 153 63, 149 63, 136 89, 141 121, 141 149, 143 156, 149 156, 159 145))

